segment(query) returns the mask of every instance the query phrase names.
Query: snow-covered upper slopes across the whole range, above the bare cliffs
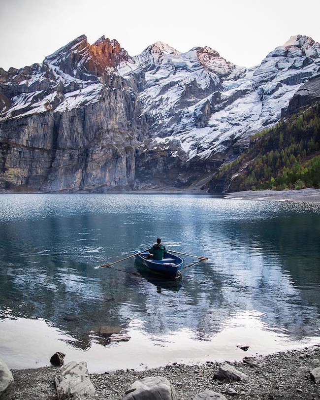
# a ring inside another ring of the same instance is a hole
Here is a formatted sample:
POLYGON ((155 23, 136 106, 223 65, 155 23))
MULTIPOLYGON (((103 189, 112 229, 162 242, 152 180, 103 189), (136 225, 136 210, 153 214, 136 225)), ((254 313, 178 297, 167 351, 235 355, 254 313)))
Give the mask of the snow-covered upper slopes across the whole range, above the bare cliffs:
MULTIPOLYGON (((102 100, 110 87, 100 68, 111 79, 123 79, 132 103, 142 105, 141 115, 150 121, 146 134, 154 141, 150 147, 170 148, 179 141, 187 160, 206 159, 226 150, 231 140, 248 139, 274 125, 300 86, 320 71, 320 44, 302 35, 292 36, 249 69, 209 47, 180 53, 162 42, 134 57, 121 49, 117 65, 99 67, 95 54, 103 60, 99 49, 107 40, 102 37, 90 46, 82 35, 42 64, 2 79, 5 93, 19 94, 0 103, 0 121, 63 113, 102 100)), ((115 40, 108 43, 119 46, 115 40)))

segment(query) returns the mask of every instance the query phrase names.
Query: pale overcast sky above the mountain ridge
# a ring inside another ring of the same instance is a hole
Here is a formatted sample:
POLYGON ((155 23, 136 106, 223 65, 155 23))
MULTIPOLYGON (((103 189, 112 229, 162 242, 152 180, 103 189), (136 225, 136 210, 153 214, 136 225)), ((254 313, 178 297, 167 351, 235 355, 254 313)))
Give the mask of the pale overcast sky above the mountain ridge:
POLYGON ((319 0, 0 0, 0 67, 41 63, 82 34, 116 39, 130 56, 160 40, 253 67, 292 35, 320 42, 319 15, 319 0))

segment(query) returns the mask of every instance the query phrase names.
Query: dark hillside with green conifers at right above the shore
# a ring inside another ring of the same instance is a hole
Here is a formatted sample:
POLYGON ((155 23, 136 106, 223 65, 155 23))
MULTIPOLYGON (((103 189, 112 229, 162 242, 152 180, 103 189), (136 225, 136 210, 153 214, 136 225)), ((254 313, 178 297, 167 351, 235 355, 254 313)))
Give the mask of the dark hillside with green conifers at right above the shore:
POLYGON ((320 188, 320 103, 253 135, 249 148, 210 183, 223 186, 228 192, 320 188))

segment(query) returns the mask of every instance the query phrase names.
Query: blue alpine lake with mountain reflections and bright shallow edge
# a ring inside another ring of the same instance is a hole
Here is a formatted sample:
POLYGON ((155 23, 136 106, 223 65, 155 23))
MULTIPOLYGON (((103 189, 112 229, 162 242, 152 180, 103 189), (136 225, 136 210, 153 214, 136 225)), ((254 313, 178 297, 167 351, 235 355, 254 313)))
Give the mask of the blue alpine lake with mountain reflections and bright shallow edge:
POLYGON ((209 195, 0 195, 0 355, 90 372, 241 360, 320 343, 320 204, 209 195), (133 258, 157 237, 180 280, 133 258), (127 342, 108 343, 103 330, 127 342), (239 345, 250 346, 244 353, 239 345))

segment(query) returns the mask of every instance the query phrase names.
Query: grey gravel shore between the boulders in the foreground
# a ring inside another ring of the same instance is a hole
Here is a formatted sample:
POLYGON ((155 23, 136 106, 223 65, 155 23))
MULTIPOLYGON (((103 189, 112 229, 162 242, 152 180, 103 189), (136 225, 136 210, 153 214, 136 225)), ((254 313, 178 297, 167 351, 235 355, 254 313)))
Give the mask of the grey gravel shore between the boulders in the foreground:
MULTIPOLYGON (((246 355, 244 353, 244 357, 246 355)), ((243 362, 229 363, 248 375, 248 381, 240 382, 214 379, 221 363, 211 361, 194 366, 174 364, 143 371, 120 370, 90 374, 96 394, 78 399, 121 400, 134 381, 148 376, 166 377, 174 386, 179 400, 192 400, 205 389, 222 393, 226 399, 320 399, 320 382, 314 382, 310 374, 310 370, 320 367, 320 345, 256 356, 256 359, 259 367, 243 362)), ((54 377, 59 370, 58 367, 12 370, 15 383, 8 399, 54 400, 54 377)))

